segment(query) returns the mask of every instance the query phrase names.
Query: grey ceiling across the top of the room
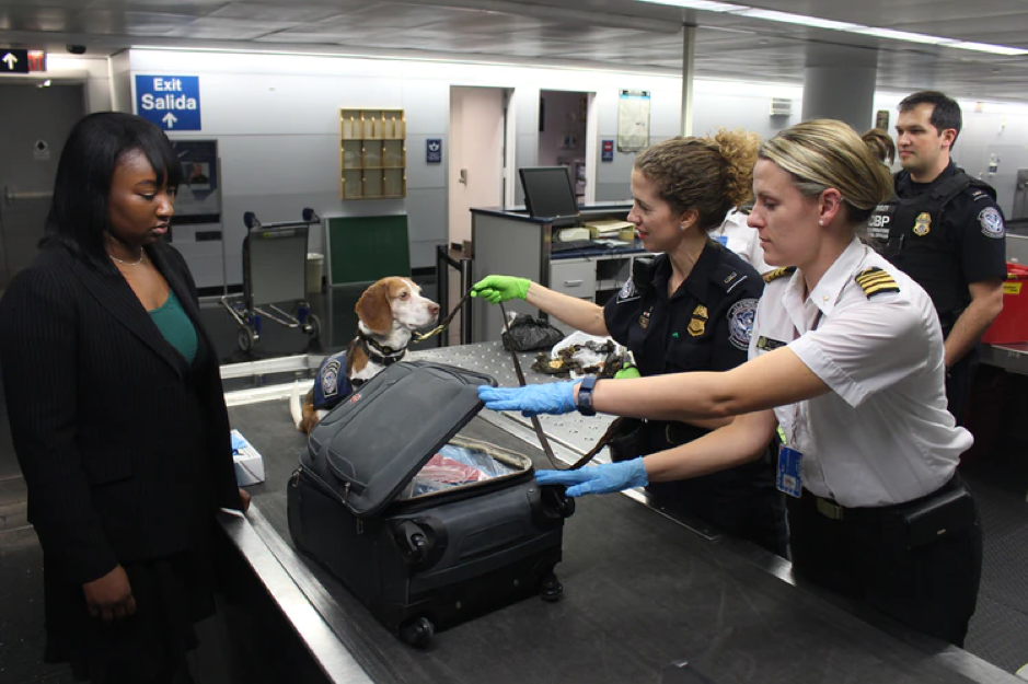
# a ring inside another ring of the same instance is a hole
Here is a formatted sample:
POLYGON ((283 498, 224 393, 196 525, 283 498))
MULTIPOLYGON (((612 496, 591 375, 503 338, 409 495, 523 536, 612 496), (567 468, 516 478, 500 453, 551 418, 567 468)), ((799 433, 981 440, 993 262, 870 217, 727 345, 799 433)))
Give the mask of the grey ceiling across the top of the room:
MULTIPOLYGON (((737 0, 741 1, 741 0, 737 0)), ((1028 0, 755 0, 752 7, 1028 48, 1028 0)), ((303 49, 681 70, 698 26, 698 78, 801 83, 811 45, 877 53, 878 88, 1028 102, 1028 57, 685 11, 636 0, 0 0, 0 45, 90 54, 131 45, 303 49)))

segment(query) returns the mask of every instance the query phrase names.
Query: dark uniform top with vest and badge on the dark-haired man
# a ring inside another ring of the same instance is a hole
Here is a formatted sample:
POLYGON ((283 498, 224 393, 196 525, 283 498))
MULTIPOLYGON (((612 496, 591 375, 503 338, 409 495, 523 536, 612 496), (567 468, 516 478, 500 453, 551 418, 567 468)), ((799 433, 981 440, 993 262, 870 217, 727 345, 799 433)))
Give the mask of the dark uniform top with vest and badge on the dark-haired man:
POLYGON ((923 287, 944 328, 970 303, 968 286, 1006 277, 995 190, 950 162, 932 183, 896 175, 896 197, 868 221, 871 244, 923 287))

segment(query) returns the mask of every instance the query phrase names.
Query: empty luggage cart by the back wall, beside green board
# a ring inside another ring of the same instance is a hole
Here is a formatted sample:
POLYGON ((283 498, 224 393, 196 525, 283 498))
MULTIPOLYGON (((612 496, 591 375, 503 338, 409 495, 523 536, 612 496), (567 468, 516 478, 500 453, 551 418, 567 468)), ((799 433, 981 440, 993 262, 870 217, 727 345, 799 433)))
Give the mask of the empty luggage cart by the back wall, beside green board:
POLYGON ((300 328, 317 339, 321 321, 307 301, 307 237, 312 224, 321 223, 313 209, 303 209, 302 221, 261 223, 253 211, 243 215, 247 233, 243 239, 243 293, 224 295, 221 305, 239 324, 235 341, 240 351, 251 351, 261 339, 264 318, 288 328, 300 328), (293 301, 293 312, 277 304, 293 301))

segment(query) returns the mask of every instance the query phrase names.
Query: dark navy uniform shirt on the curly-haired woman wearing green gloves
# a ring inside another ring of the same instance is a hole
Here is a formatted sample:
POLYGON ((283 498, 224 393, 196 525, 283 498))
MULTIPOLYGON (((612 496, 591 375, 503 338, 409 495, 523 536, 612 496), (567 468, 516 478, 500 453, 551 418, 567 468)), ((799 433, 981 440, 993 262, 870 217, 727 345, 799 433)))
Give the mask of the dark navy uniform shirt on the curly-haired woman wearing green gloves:
POLYGON ((635 260, 632 279, 603 310, 611 337, 643 375, 724 371, 746 362, 764 282, 752 266, 707 241, 689 277, 668 295, 667 255, 635 260))

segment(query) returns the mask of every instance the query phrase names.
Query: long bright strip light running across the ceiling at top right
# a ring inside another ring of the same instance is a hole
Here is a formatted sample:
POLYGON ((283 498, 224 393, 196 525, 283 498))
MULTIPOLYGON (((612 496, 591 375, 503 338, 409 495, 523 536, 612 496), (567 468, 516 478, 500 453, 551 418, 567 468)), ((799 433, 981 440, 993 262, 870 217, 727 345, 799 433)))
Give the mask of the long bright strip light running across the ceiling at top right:
POLYGON ((738 16, 748 16, 750 19, 761 19, 764 21, 779 22, 784 24, 796 24, 799 26, 811 26, 813 28, 827 28, 829 31, 842 31, 845 33, 855 33, 864 36, 874 36, 877 38, 888 38, 890 40, 904 40, 906 43, 922 43, 924 45, 937 45, 939 47, 952 47, 961 50, 973 50, 975 53, 987 53, 990 55, 1005 55, 1009 57, 1020 57, 1028 55, 1028 50, 1019 47, 1008 47, 1006 45, 992 45, 991 43, 974 43, 971 40, 957 40, 956 38, 946 38, 943 36, 931 36, 924 33, 911 33, 908 31, 894 31, 892 28, 880 28, 878 26, 865 26, 851 22, 839 22, 831 19, 821 19, 819 16, 807 16, 806 14, 793 14, 792 12, 778 12, 777 10, 763 10, 746 4, 734 4, 730 2, 714 2, 709 0, 638 0, 639 2, 649 2, 652 4, 666 4, 671 7, 685 8, 690 10, 703 10, 706 12, 718 12, 720 14, 736 14, 738 16))

